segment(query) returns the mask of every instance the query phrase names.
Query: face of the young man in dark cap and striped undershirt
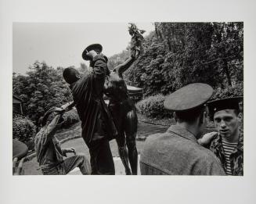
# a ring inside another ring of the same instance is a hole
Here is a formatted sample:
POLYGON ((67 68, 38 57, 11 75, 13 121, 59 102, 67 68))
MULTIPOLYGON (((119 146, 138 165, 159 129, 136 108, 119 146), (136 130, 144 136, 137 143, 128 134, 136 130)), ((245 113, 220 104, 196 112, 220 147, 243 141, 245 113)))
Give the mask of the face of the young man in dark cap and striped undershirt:
POLYGON ((215 113, 215 127, 218 133, 228 140, 232 140, 240 126, 240 117, 234 109, 224 109, 215 113))

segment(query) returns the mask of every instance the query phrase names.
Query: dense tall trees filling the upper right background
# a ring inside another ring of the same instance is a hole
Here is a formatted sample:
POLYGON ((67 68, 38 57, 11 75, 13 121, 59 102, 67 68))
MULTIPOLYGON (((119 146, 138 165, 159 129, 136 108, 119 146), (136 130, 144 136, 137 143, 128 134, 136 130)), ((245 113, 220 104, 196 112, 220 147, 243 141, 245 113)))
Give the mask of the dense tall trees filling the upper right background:
POLYGON ((243 23, 155 23, 144 45, 126 78, 145 96, 194 82, 243 86, 243 23))

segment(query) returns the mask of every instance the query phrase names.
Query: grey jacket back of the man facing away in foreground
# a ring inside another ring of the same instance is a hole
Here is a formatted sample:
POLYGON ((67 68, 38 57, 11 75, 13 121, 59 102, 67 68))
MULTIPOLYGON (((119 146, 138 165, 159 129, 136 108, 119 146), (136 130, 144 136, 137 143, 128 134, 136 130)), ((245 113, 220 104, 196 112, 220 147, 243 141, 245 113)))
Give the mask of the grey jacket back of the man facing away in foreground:
POLYGON ((225 175, 214 154, 177 125, 147 138, 140 162, 142 174, 225 175))

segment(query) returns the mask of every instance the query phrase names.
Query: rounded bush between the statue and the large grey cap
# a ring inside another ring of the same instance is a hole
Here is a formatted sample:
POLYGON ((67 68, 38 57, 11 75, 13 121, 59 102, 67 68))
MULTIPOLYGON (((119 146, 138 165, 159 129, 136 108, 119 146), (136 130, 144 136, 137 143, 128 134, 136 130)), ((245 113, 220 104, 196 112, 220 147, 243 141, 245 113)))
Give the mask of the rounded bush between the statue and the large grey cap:
POLYGON ((144 98, 135 106, 138 112, 145 116, 164 118, 172 117, 171 111, 164 109, 164 95, 153 95, 144 98))

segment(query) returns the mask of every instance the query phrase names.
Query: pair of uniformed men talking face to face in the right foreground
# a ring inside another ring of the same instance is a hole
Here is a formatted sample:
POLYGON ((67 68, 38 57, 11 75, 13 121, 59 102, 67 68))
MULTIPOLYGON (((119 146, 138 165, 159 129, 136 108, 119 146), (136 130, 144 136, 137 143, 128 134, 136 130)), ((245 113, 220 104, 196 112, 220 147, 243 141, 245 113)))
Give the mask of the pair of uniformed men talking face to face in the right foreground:
POLYGON ((164 101, 176 124, 146 139, 141 173, 146 175, 243 175, 242 97, 207 102, 213 89, 189 84, 164 101), (207 112, 218 132, 202 135, 207 112))

